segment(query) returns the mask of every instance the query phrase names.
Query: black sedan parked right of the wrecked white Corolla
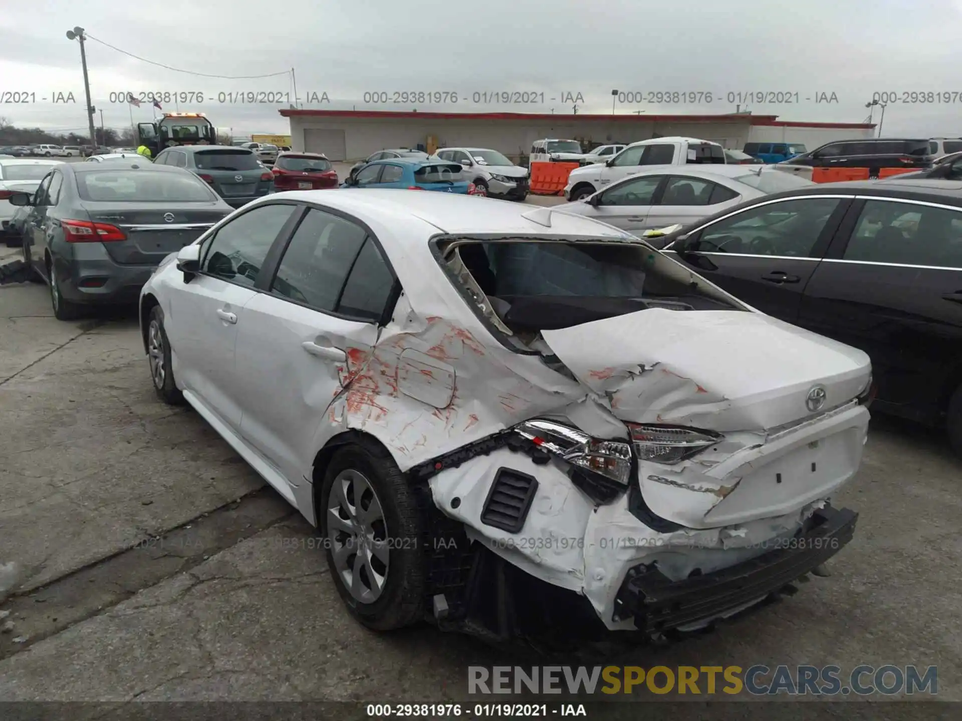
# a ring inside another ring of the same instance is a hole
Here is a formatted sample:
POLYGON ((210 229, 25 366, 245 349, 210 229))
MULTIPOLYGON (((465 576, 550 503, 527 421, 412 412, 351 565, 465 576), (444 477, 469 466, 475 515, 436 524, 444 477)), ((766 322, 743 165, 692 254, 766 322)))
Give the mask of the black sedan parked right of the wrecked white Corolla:
POLYGON ((946 427, 962 455, 962 182, 774 193, 649 242, 759 311, 864 350, 873 410, 946 427))

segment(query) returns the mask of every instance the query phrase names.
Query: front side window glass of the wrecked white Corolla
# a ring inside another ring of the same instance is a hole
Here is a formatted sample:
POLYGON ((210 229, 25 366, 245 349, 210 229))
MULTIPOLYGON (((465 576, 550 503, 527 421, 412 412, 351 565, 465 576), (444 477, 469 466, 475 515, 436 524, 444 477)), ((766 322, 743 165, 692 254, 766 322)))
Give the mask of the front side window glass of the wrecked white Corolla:
POLYGON ((259 206, 221 227, 208 248, 204 272, 253 287, 267 251, 296 209, 280 204, 259 206))

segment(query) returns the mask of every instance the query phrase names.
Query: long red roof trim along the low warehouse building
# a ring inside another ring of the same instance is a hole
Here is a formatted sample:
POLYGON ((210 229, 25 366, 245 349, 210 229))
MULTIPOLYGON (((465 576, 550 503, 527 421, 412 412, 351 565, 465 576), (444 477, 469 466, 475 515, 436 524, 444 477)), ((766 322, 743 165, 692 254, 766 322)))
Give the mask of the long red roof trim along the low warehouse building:
POLYGON ((367 117, 384 118, 418 118, 420 120, 589 120, 594 122, 659 122, 659 123, 710 123, 725 121, 747 120, 749 125, 767 125, 782 128, 848 128, 868 130, 875 126, 872 123, 808 123, 796 120, 779 120, 777 115, 748 115, 746 113, 729 113, 714 115, 568 115, 553 112, 411 112, 411 111, 323 111, 323 110, 292 110, 281 108, 278 112, 283 117, 367 117))

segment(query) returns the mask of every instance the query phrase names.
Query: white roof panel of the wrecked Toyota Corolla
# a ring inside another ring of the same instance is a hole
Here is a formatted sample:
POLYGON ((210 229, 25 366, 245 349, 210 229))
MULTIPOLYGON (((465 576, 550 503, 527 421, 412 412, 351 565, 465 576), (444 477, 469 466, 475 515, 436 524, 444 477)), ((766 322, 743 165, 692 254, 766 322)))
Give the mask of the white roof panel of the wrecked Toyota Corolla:
MULTIPOLYGON (((549 208, 482 200, 462 194, 369 188, 363 192, 350 189, 298 190, 275 193, 265 198, 269 199, 307 201, 343 211, 368 225, 384 226, 391 223, 392 217, 421 221, 425 224, 425 236, 415 239, 418 244, 423 243, 427 236, 438 233, 472 236, 595 236, 639 242, 637 237, 625 231, 581 215, 549 212, 551 225, 545 227, 524 215, 532 211, 550 211, 549 208)), ((398 234, 398 237, 404 237, 404 234, 398 234)), ((426 243, 424 246, 426 249, 426 243)))

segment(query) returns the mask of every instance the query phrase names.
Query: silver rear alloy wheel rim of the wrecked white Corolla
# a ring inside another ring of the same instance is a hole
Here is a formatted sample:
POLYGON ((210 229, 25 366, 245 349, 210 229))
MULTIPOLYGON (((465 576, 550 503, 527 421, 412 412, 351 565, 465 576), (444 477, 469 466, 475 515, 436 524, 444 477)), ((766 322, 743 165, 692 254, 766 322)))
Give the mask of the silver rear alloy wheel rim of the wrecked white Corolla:
POLYGON ((331 485, 327 537, 342 584, 362 604, 372 604, 388 580, 390 550, 381 501, 367 477, 348 468, 331 485))

